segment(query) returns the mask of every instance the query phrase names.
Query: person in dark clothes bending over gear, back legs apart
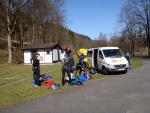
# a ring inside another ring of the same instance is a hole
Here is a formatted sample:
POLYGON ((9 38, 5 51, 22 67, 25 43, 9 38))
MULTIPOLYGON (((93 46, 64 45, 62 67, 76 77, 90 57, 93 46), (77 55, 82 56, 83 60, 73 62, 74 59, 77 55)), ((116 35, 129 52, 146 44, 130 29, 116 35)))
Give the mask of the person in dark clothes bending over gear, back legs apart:
POLYGON ((62 86, 65 85, 65 73, 67 73, 68 78, 69 78, 69 84, 71 85, 71 62, 67 61, 64 63, 62 66, 62 86))

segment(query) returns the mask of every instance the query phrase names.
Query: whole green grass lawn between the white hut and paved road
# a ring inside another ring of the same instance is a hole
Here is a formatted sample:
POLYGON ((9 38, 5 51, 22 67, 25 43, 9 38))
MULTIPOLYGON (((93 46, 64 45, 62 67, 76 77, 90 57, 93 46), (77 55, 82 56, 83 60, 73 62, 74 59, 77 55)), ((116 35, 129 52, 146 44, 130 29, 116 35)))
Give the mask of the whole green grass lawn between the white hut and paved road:
MULTIPOLYGON (((143 62, 140 60, 131 59, 132 68, 139 67, 142 64, 143 62)), ((57 63, 48 66, 41 65, 40 68, 41 73, 52 75, 50 80, 61 84, 61 67, 62 64, 57 63)), ((100 73, 92 76, 93 79, 86 83, 105 77, 105 75, 100 73)), ((60 90, 48 89, 45 86, 35 88, 32 86, 32 80, 31 66, 24 66, 23 64, 0 64, 0 108, 71 88, 68 85, 61 87, 60 90)))

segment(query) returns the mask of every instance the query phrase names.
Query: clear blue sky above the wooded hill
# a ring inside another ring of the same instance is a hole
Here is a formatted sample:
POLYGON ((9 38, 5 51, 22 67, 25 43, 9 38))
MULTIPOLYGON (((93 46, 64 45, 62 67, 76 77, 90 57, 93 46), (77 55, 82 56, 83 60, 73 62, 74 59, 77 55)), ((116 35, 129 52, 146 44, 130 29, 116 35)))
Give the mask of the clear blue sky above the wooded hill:
POLYGON ((66 26, 91 39, 97 39, 100 33, 113 34, 118 29, 118 14, 125 1, 66 0, 66 26))

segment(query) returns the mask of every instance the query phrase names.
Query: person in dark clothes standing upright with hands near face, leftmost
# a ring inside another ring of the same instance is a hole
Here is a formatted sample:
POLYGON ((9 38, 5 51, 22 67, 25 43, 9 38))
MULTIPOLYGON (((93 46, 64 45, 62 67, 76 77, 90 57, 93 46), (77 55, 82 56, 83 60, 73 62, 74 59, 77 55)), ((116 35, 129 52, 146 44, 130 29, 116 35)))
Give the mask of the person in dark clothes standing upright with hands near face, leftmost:
POLYGON ((31 59, 32 63, 32 70, 33 70, 33 79, 35 80, 35 87, 41 86, 41 82, 39 80, 40 78, 40 54, 37 53, 36 56, 34 56, 31 59))

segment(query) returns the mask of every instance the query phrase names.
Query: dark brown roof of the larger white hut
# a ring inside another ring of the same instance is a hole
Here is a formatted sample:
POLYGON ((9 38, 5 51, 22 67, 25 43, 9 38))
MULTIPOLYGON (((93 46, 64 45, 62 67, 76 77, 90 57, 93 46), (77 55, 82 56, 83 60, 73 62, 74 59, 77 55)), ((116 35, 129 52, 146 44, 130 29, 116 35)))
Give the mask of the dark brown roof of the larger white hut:
MULTIPOLYGON (((57 43, 47 43, 47 44, 30 44, 22 48, 22 50, 32 50, 32 49, 52 49, 56 46, 61 46, 57 43)), ((61 48, 62 49, 62 48, 61 48)))

